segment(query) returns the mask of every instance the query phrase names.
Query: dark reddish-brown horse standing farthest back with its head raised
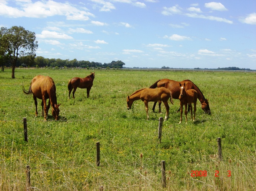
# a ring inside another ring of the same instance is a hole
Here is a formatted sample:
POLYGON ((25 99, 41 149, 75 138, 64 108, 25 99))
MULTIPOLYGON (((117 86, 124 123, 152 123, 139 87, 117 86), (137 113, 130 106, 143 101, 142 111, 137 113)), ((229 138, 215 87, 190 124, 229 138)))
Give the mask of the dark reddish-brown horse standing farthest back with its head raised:
POLYGON ((67 88, 69 89, 69 99, 70 99, 70 93, 73 90, 73 98, 75 98, 74 94, 76 92, 76 88, 86 88, 87 89, 87 98, 89 98, 90 90, 93 86, 93 80, 94 80, 94 73, 91 72, 88 76, 85 78, 80 77, 73 77, 71 80, 69 80, 69 84, 67 85, 67 88))

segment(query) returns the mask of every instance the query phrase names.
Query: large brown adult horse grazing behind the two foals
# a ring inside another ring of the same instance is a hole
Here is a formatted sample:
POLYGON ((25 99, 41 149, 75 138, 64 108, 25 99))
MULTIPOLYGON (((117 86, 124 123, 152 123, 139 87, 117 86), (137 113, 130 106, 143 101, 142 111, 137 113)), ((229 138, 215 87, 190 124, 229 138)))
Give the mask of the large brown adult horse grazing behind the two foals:
MULTIPOLYGON (((202 91, 191 80, 183 80, 183 81, 179 82, 179 81, 174 81, 174 80, 169 80, 169 79, 162 79, 162 80, 157 80, 149 88, 165 87, 165 88, 167 88, 171 91, 173 99, 179 99, 179 95, 180 95, 179 83, 181 83, 181 84, 186 83, 186 87, 185 87, 186 90, 189 90, 189 89, 196 90, 197 91, 197 98, 200 101, 200 103, 202 104, 201 105, 202 110, 206 114, 209 114, 209 115, 212 114, 211 110, 210 110, 210 107, 209 107, 208 99, 205 98, 202 91)), ((156 102, 154 103, 154 106, 152 108, 153 111, 154 111, 155 107, 156 107, 156 102)), ((161 102, 160 101, 159 101, 159 112, 161 112, 161 102)), ((179 110, 177 112, 179 112, 179 110)))

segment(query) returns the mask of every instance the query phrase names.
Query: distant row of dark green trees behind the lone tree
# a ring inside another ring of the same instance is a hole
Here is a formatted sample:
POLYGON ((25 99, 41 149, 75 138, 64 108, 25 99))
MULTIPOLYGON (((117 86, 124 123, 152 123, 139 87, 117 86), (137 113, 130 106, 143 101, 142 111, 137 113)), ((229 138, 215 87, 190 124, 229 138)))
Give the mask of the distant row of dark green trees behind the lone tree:
MULTIPOLYGON (((6 60, 4 63, 6 67, 11 66, 10 60, 6 60)), ((110 63, 104 63, 101 62, 90 62, 85 60, 62 60, 60 58, 44 58, 43 56, 36 56, 35 58, 33 56, 22 56, 17 59, 16 67, 102 67, 102 68, 122 68, 125 63, 123 63, 120 60, 112 61, 110 63)))

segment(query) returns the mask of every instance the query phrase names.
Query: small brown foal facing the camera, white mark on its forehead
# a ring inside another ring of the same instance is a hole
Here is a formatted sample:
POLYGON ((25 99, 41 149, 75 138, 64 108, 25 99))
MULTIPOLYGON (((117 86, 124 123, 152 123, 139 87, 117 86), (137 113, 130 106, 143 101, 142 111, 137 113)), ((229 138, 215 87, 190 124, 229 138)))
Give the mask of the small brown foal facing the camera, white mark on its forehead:
POLYGON ((185 115, 186 115, 186 124, 187 124, 187 104, 189 104, 190 111, 191 111, 191 120, 193 118, 192 114, 192 103, 194 103, 194 118, 193 121, 195 121, 196 118, 196 101, 197 101, 197 91, 194 89, 189 89, 186 90, 185 88, 186 83, 183 85, 180 83, 180 95, 179 95, 179 100, 180 100, 180 122, 182 122, 182 113, 183 113, 183 105, 185 105, 185 115))

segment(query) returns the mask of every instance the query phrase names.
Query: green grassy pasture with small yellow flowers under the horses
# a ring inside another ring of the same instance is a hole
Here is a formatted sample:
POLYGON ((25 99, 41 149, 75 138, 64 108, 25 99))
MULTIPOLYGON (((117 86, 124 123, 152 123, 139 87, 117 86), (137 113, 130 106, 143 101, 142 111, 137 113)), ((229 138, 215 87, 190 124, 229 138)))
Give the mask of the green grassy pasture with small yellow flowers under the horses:
POLYGON ((256 190, 256 73, 16 69, 15 76, 11 79, 11 69, 0 73, 2 191, 26 189, 27 165, 31 190, 256 190), (89 98, 86 89, 78 88, 76 98, 69 100, 69 80, 90 72, 95 79, 89 98), (22 84, 27 90, 39 74, 55 82, 59 121, 51 112, 47 121, 35 118, 33 96, 22 92, 22 84), (146 120, 144 103, 135 101, 127 110, 126 97, 164 78, 192 80, 209 98, 212 115, 197 100, 196 121, 179 124, 179 100, 173 99, 174 105, 168 101, 169 119, 163 122, 159 143, 164 105, 162 114, 153 113, 150 102, 146 120), (222 139, 222 161, 217 138, 222 139), (193 171, 204 171, 204 176, 193 171))

